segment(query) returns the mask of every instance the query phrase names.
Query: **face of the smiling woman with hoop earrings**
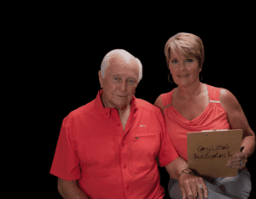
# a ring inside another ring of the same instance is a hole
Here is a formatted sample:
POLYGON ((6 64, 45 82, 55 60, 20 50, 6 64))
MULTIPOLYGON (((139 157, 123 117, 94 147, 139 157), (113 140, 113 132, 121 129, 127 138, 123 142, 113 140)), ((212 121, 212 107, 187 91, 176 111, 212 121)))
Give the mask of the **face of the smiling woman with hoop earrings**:
POLYGON ((171 51, 169 61, 169 70, 172 73, 173 81, 177 86, 188 87, 196 81, 199 81, 199 62, 195 57, 184 57, 179 51, 171 51))

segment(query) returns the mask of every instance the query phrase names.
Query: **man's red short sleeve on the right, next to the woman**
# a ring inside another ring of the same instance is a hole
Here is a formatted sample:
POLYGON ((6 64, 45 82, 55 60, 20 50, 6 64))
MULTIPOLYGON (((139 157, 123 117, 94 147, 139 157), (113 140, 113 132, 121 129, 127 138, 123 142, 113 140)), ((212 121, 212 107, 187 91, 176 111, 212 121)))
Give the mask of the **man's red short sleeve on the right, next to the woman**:
POLYGON ((160 145, 160 152, 158 156, 158 161, 160 167, 165 167, 167 164, 174 161, 177 157, 177 151, 175 150, 174 146, 172 145, 172 141, 170 136, 166 131, 166 122, 162 114, 157 114, 158 119, 160 120, 160 124, 162 126, 162 131, 160 133, 161 145, 160 145))

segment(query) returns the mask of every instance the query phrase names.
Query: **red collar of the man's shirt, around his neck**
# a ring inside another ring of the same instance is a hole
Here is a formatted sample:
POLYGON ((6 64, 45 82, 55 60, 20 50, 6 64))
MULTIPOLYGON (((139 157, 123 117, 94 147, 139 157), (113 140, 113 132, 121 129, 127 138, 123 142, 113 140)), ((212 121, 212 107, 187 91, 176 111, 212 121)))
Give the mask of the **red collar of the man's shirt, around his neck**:
MULTIPOLYGON (((111 110, 113 110, 114 108, 105 108, 103 106, 103 103, 102 103, 102 93, 103 93, 103 90, 99 90, 97 96, 96 96, 96 99, 95 99, 95 107, 96 107, 96 110, 99 111, 99 113, 103 116, 103 117, 106 117, 107 119, 110 117, 111 115, 111 110)), ((136 97, 133 95, 132 99, 131 99, 131 111, 133 113, 136 113, 138 108, 137 108, 137 99, 136 97)))

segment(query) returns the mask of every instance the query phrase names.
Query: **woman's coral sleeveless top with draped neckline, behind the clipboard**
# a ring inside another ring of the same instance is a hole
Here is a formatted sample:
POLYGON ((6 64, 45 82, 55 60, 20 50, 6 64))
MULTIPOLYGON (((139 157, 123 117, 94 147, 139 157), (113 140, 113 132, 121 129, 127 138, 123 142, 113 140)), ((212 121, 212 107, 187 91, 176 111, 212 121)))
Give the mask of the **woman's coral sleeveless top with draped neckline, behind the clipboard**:
POLYGON ((173 90, 166 94, 161 94, 164 105, 164 117, 166 129, 169 133, 172 144, 179 156, 188 161, 187 155, 187 134, 189 132, 201 132, 202 130, 230 129, 230 123, 224 108, 219 102, 219 92, 221 88, 207 85, 210 104, 199 117, 189 121, 184 118, 172 106, 173 90))

